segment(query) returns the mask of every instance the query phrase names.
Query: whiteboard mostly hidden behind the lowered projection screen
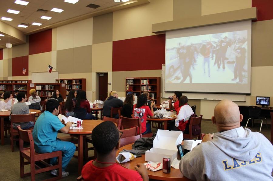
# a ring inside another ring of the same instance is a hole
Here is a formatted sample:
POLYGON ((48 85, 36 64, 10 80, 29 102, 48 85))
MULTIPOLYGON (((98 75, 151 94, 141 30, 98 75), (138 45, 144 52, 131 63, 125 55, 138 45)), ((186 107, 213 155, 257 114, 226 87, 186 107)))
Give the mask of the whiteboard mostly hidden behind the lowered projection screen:
MULTIPOLYGON (((163 85, 162 98, 168 98, 169 96, 174 95, 174 92, 165 92, 165 64, 162 64, 161 74, 162 74, 161 85, 163 85)), ((186 95, 188 99, 215 100, 215 101, 229 99, 231 101, 238 101, 238 102, 246 101, 245 94, 213 94, 213 93, 188 93, 188 92, 185 92, 185 93, 182 92, 182 93, 183 95, 186 95)))

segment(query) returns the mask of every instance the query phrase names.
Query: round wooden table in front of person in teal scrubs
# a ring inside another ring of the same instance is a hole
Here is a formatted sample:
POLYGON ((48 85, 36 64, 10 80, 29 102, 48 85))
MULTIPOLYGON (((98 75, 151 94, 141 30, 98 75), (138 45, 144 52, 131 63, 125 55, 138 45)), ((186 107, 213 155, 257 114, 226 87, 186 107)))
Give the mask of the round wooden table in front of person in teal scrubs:
POLYGON ((78 174, 81 175, 83 168, 83 137, 92 134, 93 129, 103 121, 101 120, 83 120, 83 129, 71 129, 67 134, 78 136, 78 174))

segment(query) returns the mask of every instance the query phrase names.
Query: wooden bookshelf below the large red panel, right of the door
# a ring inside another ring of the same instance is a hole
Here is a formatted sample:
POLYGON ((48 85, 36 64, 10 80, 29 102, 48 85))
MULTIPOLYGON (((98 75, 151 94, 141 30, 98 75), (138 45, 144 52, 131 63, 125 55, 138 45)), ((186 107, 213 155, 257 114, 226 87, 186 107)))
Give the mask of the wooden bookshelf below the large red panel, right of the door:
POLYGON ((154 99, 156 105, 160 105, 160 77, 132 77, 125 80, 126 95, 133 93, 136 96, 147 91, 149 99, 154 99))

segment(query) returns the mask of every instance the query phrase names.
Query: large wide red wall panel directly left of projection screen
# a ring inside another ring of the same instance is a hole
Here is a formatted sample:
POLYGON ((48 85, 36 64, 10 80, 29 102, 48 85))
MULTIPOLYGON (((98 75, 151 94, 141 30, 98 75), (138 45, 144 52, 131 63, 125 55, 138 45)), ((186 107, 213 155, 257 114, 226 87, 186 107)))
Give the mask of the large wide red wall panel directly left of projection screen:
POLYGON ((112 71, 158 70, 165 63, 165 34, 113 41, 112 71))

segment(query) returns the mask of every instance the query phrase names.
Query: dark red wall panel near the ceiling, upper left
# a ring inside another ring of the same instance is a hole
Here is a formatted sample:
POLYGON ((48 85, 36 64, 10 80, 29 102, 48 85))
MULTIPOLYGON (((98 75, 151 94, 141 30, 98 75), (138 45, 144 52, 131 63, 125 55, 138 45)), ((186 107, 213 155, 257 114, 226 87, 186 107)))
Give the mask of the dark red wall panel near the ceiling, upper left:
POLYGON ((51 51, 52 29, 29 35, 29 55, 51 51))

